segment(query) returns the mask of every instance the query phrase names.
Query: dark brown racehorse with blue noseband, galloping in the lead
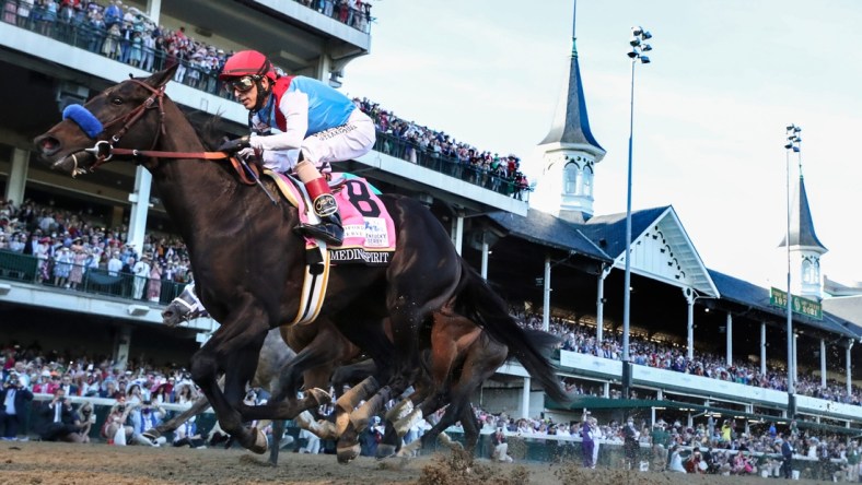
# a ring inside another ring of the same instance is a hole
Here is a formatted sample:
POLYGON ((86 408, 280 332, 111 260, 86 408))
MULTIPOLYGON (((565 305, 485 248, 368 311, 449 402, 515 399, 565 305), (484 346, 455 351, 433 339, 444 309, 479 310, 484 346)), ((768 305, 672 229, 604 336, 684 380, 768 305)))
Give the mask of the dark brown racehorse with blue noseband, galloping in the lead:
MULTIPOLYGON (((243 447, 263 452, 266 439, 244 421, 257 413, 272 418, 295 415, 298 405, 307 409, 328 398, 308 390, 301 403, 242 402, 267 331, 292 321, 302 305, 299 295, 308 257, 305 240, 293 233, 300 214, 288 203, 271 202, 273 182, 260 181, 268 191, 238 184, 231 165, 208 159, 194 128, 165 95, 175 70, 176 66, 106 88, 34 143, 44 162, 71 175, 95 169, 115 155, 141 163, 152 174, 188 247, 198 295, 220 323, 191 359, 193 379, 222 428, 243 447), (220 372, 223 390, 218 386, 220 372)), ((431 212, 407 197, 380 200, 396 230, 389 264, 334 267, 321 314, 374 359, 374 379, 361 389, 376 392, 368 401, 378 409, 410 386, 420 368, 420 333, 432 323, 434 310, 454 300, 458 315, 505 344, 552 399, 566 402, 548 359, 508 315, 502 299, 457 255, 431 212), (381 323, 386 318, 392 341, 381 323)), ((351 425, 377 409, 357 410, 351 425)), ((356 437, 350 426, 345 431, 356 437)))

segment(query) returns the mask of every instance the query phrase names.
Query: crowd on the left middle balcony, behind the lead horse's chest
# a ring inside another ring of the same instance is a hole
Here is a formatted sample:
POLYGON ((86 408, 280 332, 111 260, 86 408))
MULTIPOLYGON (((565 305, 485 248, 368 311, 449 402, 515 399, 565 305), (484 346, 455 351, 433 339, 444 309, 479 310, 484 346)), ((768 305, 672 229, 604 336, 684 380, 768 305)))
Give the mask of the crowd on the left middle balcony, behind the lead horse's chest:
POLYGON ((185 245, 178 237, 149 233, 138 249, 126 242, 127 230, 108 227, 104 217, 86 211, 30 199, 21 206, 0 201, 0 251, 35 257, 36 283, 80 289, 90 282, 125 297, 170 301, 177 285, 194 279, 185 245))

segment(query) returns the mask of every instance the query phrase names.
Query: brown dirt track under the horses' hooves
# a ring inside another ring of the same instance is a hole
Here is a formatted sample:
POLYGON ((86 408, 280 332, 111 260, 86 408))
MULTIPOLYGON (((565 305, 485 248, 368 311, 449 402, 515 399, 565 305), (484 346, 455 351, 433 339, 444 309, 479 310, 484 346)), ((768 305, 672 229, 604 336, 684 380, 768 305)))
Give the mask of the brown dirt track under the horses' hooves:
MULTIPOLYGON (((144 448, 48 442, 0 443, 0 484, 777 484, 774 478, 692 476, 584 471, 573 464, 498 464, 477 460, 469 472, 458 472, 451 457, 421 457, 385 463, 360 458, 339 465, 333 456, 283 453, 271 468, 264 458, 237 449, 144 448), (445 461, 443 460, 445 458, 445 461)), ((799 484, 825 482, 800 481, 799 484)))

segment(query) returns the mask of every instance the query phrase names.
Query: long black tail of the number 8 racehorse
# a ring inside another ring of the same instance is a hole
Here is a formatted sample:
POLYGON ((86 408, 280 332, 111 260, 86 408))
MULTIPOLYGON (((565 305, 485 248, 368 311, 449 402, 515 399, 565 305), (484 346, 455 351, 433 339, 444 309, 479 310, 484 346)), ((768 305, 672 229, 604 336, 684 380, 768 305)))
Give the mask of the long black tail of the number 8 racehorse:
POLYGON ((462 264, 462 281, 455 311, 481 327, 492 339, 509 347, 514 357, 558 403, 571 399, 563 391, 550 360, 544 355, 559 343, 556 336, 537 330, 527 331, 509 315, 506 304, 467 263, 462 264))

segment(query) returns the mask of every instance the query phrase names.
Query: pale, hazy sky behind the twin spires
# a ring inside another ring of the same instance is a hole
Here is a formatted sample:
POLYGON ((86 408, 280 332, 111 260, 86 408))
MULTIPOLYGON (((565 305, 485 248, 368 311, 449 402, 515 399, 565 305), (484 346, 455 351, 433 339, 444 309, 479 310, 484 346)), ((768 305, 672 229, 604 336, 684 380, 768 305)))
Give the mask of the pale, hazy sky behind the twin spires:
MULTIPOLYGON (((373 0, 371 54, 343 87, 540 174, 569 64, 572 0, 373 0)), ((634 73, 632 209, 673 205, 703 263, 784 287, 785 127, 802 128, 802 173, 822 272, 862 281, 862 1, 581 0, 575 36, 595 167, 596 215, 626 211, 631 27, 653 38, 634 73), (853 133, 857 133, 855 135, 853 133)), ((794 156, 793 165, 799 163, 794 156)), ((796 185, 793 179, 793 187, 796 185)))

